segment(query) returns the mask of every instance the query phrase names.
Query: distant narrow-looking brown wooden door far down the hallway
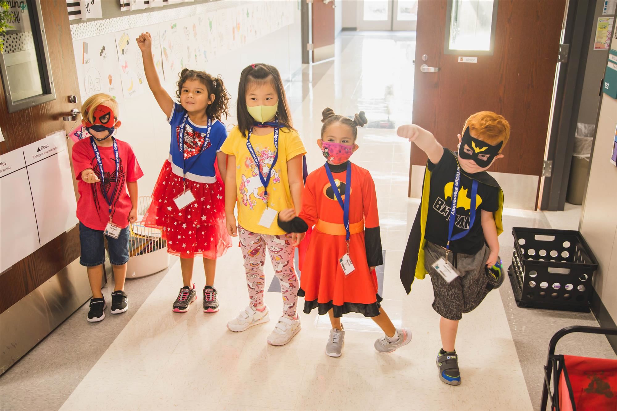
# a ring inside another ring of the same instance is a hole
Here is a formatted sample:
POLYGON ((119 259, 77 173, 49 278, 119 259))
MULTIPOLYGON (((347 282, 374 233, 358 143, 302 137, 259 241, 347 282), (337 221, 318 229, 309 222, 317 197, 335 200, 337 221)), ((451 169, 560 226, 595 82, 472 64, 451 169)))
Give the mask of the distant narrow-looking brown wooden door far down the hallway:
POLYGON ((312 4, 313 63, 334 57, 334 1, 312 4))

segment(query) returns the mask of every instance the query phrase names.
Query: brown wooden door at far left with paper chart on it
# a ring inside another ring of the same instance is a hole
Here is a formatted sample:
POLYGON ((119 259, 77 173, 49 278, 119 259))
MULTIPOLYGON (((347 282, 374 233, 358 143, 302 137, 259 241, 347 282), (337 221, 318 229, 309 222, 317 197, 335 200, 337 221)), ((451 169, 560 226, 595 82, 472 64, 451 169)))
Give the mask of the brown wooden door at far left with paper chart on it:
MULTIPOLYGON (((79 108, 78 103, 68 102, 68 96, 79 96, 80 93, 73 41, 68 24, 67 2, 43 0, 40 4, 56 99, 9 114, 0 82, 0 123, 5 138, 5 141, 0 143, 0 154, 34 143, 53 131, 62 129, 70 131, 73 122, 64 122, 62 117, 68 115, 71 109, 79 108)), ((10 233, 3 232, 2 235, 10 233)), ((0 274, 0 313, 27 296, 79 256, 79 230, 76 227, 57 236, 33 254, 12 265, 9 270, 0 274)))

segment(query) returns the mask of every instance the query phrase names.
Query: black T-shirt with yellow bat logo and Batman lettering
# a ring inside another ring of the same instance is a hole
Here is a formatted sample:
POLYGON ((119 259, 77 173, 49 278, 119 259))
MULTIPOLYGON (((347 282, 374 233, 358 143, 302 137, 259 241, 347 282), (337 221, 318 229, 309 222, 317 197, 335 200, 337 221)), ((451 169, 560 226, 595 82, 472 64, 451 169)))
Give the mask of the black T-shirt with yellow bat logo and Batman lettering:
MULTIPOLYGON (((437 164, 428 162, 431 171, 431 191, 429 194, 428 215, 424 238, 438 246, 448 243, 450 206, 452 188, 457 174, 457 159, 452 151, 444 148, 444 155, 437 164)), ((461 170, 458 207, 452 236, 465 231, 470 225, 471 178, 461 170)), ((495 212, 499 207, 499 188, 478 183, 476 194, 476 217, 467 235, 450 243, 450 251, 463 254, 476 254, 484 246, 482 231, 482 210, 495 212)))

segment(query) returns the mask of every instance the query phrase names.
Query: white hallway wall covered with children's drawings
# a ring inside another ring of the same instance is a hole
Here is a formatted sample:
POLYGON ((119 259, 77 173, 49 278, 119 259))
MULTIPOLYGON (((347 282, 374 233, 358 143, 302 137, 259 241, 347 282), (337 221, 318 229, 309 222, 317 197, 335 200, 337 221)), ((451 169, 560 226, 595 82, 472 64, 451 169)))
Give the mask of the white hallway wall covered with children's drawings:
POLYGON ((297 0, 184 4, 71 25, 81 101, 95 93, 117 99, 122 120, 117 136, 135 150, 145 174, 139 192, 146 195, 167 159, 170 129, 144 76, 136 43, 142 31, 152 35, 155 65, 172 98, 184 67, 223 78, 231 95, 230 117, 223 121, 228 129, 235 123, 244 67, 255 62, 275 65, 284 81, 302 67, 297 0))

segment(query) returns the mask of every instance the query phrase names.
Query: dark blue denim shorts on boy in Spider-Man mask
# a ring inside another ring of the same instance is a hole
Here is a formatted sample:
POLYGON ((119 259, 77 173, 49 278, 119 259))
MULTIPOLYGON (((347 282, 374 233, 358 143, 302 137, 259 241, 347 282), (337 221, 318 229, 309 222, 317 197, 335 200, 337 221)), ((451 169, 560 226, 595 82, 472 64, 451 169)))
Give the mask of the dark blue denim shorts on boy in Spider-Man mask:
POLYGON ((105 239, 109 250, 109 262, 112 265, 123 265, 128 262, 128 227, 120 231, 117 239, 104 235, 103 230, 93 230, 79 223, 79 239, 81 243, 80 264, 86 267, 96 267, 105 262, 105 239))

